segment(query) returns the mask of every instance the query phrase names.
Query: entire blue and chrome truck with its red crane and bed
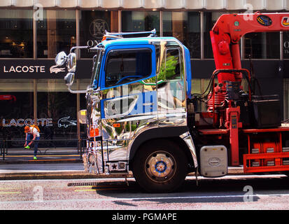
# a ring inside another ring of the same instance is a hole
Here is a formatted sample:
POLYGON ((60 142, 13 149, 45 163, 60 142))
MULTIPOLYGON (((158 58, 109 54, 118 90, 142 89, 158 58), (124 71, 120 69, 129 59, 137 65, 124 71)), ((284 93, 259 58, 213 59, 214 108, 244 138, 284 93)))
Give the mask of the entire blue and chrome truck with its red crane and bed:
POLYGON ((176 190, 189 172, 227 175, 289 174, 289 125, 281 120, 279 96, 256 95, 250 71, 242 68, 240 39, 250 32, 288 31, 289 13, 224 14, 210 31, 216 70, 202 93, 191 91, 190 52, 174 37, 155 30, 106 33, 90 51, 92 79, 73 91, 74 47, 57 55, 69 71, 69 91, 84 92, 87 110, 85 170, 95 174, 132 172, 150 192, 176 190), (149 35, 149 36, 148 36, 149 35), (192 93, 194 92, 194 93, 192 93))

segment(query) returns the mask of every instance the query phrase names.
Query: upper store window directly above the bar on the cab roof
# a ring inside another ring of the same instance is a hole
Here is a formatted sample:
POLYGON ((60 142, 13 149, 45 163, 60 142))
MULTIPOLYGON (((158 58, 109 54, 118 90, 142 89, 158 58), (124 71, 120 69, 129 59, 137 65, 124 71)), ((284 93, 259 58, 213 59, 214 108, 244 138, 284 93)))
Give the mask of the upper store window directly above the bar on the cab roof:
POLYGON ((137 32, 156 29, 160 36, 160 13, 155 11, 122 11, 122 31, 137 32))

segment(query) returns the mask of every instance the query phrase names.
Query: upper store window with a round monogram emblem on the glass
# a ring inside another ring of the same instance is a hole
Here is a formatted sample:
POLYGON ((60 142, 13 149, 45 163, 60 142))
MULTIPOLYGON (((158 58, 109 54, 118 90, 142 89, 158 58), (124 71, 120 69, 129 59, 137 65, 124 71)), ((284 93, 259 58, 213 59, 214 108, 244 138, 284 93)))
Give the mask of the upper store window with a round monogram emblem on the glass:
MULTIPOLYGON (((105 31, 118 32, 118 11, 82 10, 80 13, 80 45, 93 47, 100 43, 105 31)), ((93 50, 81 50, 81 57, 92 58, 93 50)))

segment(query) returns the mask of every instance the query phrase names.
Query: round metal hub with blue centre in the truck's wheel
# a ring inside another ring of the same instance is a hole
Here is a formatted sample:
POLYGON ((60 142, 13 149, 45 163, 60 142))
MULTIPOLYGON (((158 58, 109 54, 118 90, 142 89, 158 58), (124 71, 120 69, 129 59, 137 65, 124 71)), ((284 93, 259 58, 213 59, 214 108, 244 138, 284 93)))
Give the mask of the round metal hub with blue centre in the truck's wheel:
POLYGON ((176 171, 176 161, 167 152, 157 151, 146 160, 146 174, 157 182, 169 181, 176 171))

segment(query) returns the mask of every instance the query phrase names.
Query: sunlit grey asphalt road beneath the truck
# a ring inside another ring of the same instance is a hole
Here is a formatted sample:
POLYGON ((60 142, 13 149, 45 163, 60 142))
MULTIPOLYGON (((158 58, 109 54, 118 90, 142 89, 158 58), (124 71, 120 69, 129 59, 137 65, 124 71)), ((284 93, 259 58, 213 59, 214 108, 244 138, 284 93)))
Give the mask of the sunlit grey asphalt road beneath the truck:
MULTIPOLYGON (((288 210, 287 176, 189 176, 176 193, 144 193, 134 179, 0 182, 1 210, 288 210)), ((112 216, 113 214, 110 214, 112 216)))

